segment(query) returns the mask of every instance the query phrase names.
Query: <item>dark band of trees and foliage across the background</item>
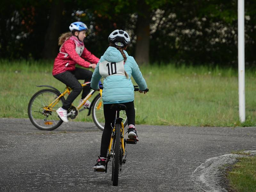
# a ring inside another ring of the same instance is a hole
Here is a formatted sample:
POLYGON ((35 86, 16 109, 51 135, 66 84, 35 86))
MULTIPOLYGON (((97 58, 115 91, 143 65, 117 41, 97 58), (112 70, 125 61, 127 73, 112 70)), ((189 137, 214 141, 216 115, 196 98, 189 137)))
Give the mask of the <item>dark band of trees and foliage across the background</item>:
MULTIPOLYGON (((256 64, 255 10, 245 1, 246 64, 256 64)), ((1 58, 54 58, 58 36, 80 20, 90 28, 85 46, 98 57, 108 35, 124 29, 139 64, 237 64, 236 0, 3 0, 0 11, 1 58)))

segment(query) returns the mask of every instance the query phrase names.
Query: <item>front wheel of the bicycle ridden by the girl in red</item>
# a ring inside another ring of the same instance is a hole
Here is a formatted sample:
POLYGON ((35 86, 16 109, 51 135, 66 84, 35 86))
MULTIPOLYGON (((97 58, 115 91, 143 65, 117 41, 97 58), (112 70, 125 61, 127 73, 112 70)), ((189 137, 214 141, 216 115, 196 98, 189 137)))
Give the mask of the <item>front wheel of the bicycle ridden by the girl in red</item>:
MULTIPOLYGON (((92 103, 92 120, 101 131, 104 130, 105 118, 103 111, 103 101, 100 93, 96 96, 95 101, 92 103)), ((126 114, 124 115, 123 122, 125 127, 128 124, 126 114)))

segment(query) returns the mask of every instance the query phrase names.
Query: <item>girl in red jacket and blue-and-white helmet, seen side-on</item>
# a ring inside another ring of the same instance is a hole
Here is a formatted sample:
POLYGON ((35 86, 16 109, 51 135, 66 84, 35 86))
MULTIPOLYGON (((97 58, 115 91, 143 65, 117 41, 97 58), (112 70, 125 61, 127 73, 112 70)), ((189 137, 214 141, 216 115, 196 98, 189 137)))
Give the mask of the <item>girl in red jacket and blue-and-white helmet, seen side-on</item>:
MULTIPOLYGON (((52 69, 52 75, 73 90, 68 95, 63 106, 56 110, 61 120, 65 123, 68 123, 67 110, 82 89, 81 100, 90 92, 90 86, 84 86, 83 88, 78 79, 82 79, 84 82, 91 81, 92 72, 84 68, 75 67, 76 63, 85 68, 94 69, 100 60, 84 47, 87 26, 78 21, 71 23, 69 29, 71 32, 64 33, 59 37, 60 52, 54 60, 52 69)), ((90 107, 90 102, 86 101, 84 107, 90 107)))

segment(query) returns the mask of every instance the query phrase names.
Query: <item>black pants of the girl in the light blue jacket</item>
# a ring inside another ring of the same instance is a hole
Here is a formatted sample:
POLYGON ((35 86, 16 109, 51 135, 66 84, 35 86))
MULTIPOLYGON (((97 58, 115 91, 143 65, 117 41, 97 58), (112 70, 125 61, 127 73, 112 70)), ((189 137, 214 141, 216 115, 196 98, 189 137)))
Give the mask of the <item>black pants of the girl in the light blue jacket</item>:
MULTIPOLYGON (((135 125, 135 109, 134 109, 133 101, 127 102, 127 103, 122 103, 122 104, 124 104, 126 106, 125 112, 126 112, 126 116, 128 119, 128 125, 130 125, 130 124, 135 125)), ((104 126, 104 131, 103 131, 102 137, 101 137, 100 157, 107 157, 108 144, 110 142, 110 137, 111 137, 111 132, 112 132, 111 123, 116 118, 116 111, 110 109, 111 105, 113 105, 113 104, 104 104, 103 105, 105 126, 104 126)), ((120 112, 120 117, 122 117, 121 112, 120 112)))

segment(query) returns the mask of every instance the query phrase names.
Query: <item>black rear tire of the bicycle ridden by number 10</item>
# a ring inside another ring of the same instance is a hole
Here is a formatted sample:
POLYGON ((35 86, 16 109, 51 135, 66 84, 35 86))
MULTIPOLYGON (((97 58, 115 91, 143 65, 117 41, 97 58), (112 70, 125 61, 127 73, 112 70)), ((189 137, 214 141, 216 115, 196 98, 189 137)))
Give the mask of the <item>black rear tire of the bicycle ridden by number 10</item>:
POLYGON ((115 128, 116 139, 115 139, 115 144, 113 144, 114 153, 113 153, 113 163, 112 163, 113 186, 118 185, 119 164, 120 164, 120 145, 121 145, 120 129, 121 129, 121 125, 116 124, 116 128, 115 128))

